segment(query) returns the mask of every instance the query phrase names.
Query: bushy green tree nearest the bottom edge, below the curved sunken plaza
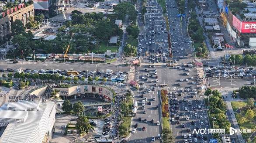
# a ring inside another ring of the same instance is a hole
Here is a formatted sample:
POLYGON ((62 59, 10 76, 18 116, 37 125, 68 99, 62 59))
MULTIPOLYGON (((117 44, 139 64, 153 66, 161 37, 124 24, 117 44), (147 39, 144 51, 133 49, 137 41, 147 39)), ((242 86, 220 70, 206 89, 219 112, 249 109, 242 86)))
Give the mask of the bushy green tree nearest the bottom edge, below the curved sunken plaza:
POLYGON ((90 133, 90 131, 93 131, 94 127, 90 124, 86 116, 79 116, 76 121, 76 129, 82 136, 86 133, 90 133))

